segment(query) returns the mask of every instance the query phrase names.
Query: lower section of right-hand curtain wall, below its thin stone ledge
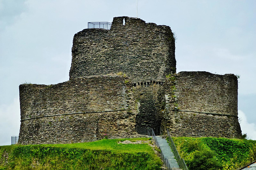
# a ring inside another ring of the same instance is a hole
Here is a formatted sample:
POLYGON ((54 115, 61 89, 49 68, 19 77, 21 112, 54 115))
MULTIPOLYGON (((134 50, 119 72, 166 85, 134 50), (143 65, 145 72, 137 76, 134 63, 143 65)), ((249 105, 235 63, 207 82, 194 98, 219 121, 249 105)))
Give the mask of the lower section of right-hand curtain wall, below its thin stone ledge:
POLYGON ((182 111, 172 116, 174 121, 170 125, 172 136, 226 138, 241 138, 242 136, 237 117, 182 111))

